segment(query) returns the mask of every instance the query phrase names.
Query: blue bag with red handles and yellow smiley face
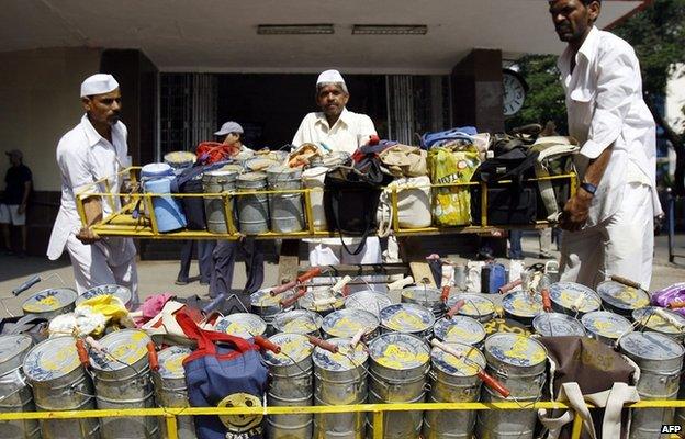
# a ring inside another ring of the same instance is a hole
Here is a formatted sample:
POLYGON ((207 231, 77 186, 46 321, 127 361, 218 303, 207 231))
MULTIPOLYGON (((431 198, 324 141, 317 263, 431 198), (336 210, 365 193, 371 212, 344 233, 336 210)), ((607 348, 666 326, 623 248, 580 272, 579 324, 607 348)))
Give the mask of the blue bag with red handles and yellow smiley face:
MULTIPOLYGON (((258 407, 268 371, 252 340, 205 330, 183 313, 176 316, 198 349, 183 360, 191 407, 258 407), (217 342, 221 344, 217 345, 217 342)), ((261 415, 195 416, 199 439, 258 439, 261 415)))

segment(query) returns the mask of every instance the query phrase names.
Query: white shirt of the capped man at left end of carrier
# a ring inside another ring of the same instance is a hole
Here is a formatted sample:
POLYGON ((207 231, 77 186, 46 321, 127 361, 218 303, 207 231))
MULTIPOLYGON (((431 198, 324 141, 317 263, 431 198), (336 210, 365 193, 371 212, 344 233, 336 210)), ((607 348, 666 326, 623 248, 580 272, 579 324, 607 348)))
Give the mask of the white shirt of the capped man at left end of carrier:
MULTIPOLYGON (((108 178, 110 192, 119 192, 121 179, 115 175, 126 162, 127 131, 122 122, 112 126, 112 142, 102 137, 92 126, 87 115, 71 131, 61 136, 57 144, 57 165, 61 172, 61 201, 59 213, 47 248, 47 257, 52 260, 59 258, 64 251, 69 234, 77 233, 81 221, 76 209, 76 194, 86 191, 92 182, 108 178)), ((86 192, 108 192, 104 183, 99 188, 90 187, 86 192)), ((108 215, 120 207, 117 196, 103 198, 103 215, 108 215)), ((124 245, 130 239, 104 239, 104 251, 114 261, 126 261, 135 255, 135 247, 124 245), (121 246, 120 246, 121 245, 121 246), (114 248, 112 248, 114 246, 114 248), (133 251, 133 254, 132 254, 133 251)))

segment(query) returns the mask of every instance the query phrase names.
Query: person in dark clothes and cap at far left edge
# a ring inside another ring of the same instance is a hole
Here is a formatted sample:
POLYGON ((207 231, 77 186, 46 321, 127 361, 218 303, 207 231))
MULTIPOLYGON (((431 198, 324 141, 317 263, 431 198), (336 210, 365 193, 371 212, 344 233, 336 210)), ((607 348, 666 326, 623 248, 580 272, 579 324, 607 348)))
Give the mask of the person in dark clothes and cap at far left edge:
POLYGON ((12 252, 12 235, 10 227, 21 230, 21 248, 16 256, 26 256, 26 206, 32 189, 31 169, 23 164, 23 154, 19 149, 5 153, 10 159, 10 168, 4 176, 4 195, 0 199, 0 225, 8 255, 12 252))

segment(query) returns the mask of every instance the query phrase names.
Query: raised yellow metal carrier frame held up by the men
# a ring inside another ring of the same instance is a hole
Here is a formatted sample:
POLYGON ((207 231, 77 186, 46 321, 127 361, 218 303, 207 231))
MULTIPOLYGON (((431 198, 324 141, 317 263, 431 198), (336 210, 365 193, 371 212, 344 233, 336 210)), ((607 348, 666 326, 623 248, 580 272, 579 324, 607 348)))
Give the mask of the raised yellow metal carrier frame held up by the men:
MULTIPOLYGON (((117 176, 122 176, 124 173, 130 175, 130 181, 132 184, 137 184, 138 179, 136 178, 136 173, 139 172, 141 167, 130 167, 117 173, 117 176)), ((541 180, 571 180, 571 195, 575 194, 577 187, 577 176, 574 172, 565 173, 561 176, 549 176, 541 177, 536 179, 526 180, 527 182, 536 182, 541 180)), ((497 182, 497 184, 507 184, 510 183, 510 180, 497 182)), ((228 191, 222 193, 171 193, 171 194, 159 194, 159 193, 110 193, 110 192, 97 192, 92 189, 97 189, 99 184, 104 184, 105 189, 109 189, 109 178, 104 178, 98 180, 91 184, 89 184, 85 190, 76 194, 76 204, 77 211, 79 213, 79 217, 81 218, 81 224, 86 225, 86 215, 83 210, 83 201, 91 196, 105 196, 110 200, 115 196, 120 196, 122 199, 127 199, 124 202, 122 209, 117 212, 114 212, 106 217, 103 217, 102 221, 93 224, 91 228, 100 236, 124 236, 124 237, 136 237, 136 238, 148 238, 148 239, 240 239, 245 235, 238 232, 238 228, 234 222, 233 215, 233 203, 232 200, 234 196, 245 196, 245 195, 276 195, 276 194, 287 194, 287 193, 302 193, 304 194, 304 216, 305 216, 305 229, 302 232, 294 233, 273 233, 268 232, 258 235, 250 235, 250 237, 257 239, 277 239, 277 238, 289 238, 289 239, 304 239, 304 238, 326 238, 326 237, 336 237, 337 235, 334 232, 317 232, 314 228, 314 215, 313 215, 313 205, 312 205, 312 192, 322 191, 322 189, 290 189, 290 190, 267 190, 267 191, 228 191), (159 233, 157 228, 157 217, 155 216, 155 210, 153 209, 153 199, 155 196, 172 196, 172 198, 221 198, 224 201, 224 215, 226 217, 226 226, 228 233, 226 234, 214 234, 207 230, 181 230, 181 232, 171 232, 171 233, 159 233), (136 205, 139 204, 139 201, 143 201, 146 210, 146 216, 141 214, 141 216, 135 219, 132 217, 131 213, 135 209, 136 205)), ((440 188, 464 188, 480 185, 481 187, 481 206, 487 205, 487 185, 485 183, 478 182, 464 182, 464 183, 442 183, 442 184, 430 184, 430 190, 435 191, 440 188)), ((400 218, 398 218, 398 193, 406 189, 422 189, 426 188, 426 185, 413 185, 413 187, 402 187, 402 188, 392 188, 389 191, 391 204, 392 204, 392 218, 391 218, 391 227, 393 229, 394 235, 396 236, 412 236, 412 235, 442 235, 442 234, 462 234, 462 233, 491 233, 494 230, 501 230, 503 228, 544 228, 549 227, 548 222, 537 222, 537 224, 532 224, 529 226, 489 226, 487 225, 487 209, 481 209, 481 226, 456 226, 456 227, 422 227, 422 228, 402 228, 400 227, 400 218)))

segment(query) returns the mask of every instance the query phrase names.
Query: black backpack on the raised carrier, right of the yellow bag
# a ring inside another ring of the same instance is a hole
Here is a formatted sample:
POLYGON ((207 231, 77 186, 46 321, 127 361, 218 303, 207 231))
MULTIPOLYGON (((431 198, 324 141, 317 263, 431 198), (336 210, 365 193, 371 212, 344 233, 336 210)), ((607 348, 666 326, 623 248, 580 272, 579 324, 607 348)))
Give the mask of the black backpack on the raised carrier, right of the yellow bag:
POLYGON ((535 166, 539 153, 526 154, 514 148, 501 156, 489 158, 475 170, 471 181, 487 184, 487 205, 482 206, 482 185, 471 189, 471 216, 473 224, 484 225, 483 209, 487 213, 487 225, 535 224, 537 219, 537 185, 527 181, 535 178, 535 166), (509 180, 510 182, 504 182, 509 180))

